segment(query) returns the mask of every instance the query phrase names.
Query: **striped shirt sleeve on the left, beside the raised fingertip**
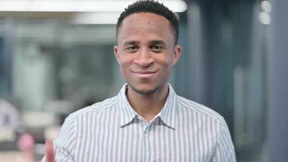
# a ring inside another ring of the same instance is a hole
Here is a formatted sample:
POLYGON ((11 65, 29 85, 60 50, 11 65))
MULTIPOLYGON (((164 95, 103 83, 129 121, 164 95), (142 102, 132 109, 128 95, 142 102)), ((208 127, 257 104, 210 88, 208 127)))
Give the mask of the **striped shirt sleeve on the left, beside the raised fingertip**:
MULTIPOLYGON (((68 116, 61 128, 61 131, 53 142, 55 162, 75 162, 75 123, 68 116)), ((46 156, 42 162, 46 162, 46 156)))

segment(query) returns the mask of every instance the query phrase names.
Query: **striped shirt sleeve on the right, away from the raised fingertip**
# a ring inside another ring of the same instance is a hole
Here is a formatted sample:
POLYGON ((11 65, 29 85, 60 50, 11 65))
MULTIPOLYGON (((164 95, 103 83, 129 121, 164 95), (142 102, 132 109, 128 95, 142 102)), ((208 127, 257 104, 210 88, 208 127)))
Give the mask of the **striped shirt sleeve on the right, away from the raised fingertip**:
POLYGON ((226 121, 219 124, 219 135, 211 162, 236 162, 236 155, 226 121))

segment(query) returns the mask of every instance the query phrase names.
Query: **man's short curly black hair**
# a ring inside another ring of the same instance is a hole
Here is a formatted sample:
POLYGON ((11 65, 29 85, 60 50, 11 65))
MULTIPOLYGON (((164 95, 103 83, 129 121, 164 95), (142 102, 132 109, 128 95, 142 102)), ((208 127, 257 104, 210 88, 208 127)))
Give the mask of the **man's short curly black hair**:
POLYGON ((130 4, 125 10, 120 14, 116 25, 116 39, 118 38, 118 31, 121 26, 122 21, 129 15, 134 13, 153 13, 157 15, 164 16, 170 22, 170 30, 174 36, 174 44, 178 42, 179 35, 179 19, 177 16, 169 10, 163 3, 159 3, 154 0, 139 0, 130 4))

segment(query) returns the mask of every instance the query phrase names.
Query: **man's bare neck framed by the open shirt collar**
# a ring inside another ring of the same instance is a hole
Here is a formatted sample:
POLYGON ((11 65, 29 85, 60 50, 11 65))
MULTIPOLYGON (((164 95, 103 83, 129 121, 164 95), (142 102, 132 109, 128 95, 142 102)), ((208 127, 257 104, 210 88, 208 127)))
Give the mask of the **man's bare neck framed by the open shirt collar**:
POLYGON ((151 94, 139 94, 129 85, 126 92, 131 107, 148 123, 163 109, 169 94, 168 83, 151 94))

